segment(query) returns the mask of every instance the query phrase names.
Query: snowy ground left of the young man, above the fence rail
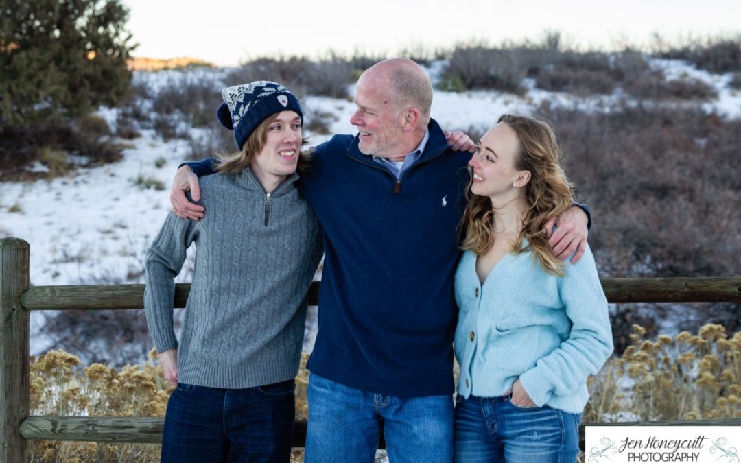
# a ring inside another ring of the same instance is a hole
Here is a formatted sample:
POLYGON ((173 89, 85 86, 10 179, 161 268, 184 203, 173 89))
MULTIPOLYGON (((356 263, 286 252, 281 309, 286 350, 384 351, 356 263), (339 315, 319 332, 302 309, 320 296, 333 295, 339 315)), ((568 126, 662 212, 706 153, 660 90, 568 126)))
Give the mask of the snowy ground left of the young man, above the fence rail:
POLYGON ((170 184, 187 145, 162 143, 143 133, 124 150, 124 159, 104 167, 79 168, 51 181, 5 182, 2 228, 31 245, 31 284, 76 284, 103 276, 124 282, 141 264, 147 242, 169 210, 167 190, 144 188, 136 179, 170 184), (161 168, 156 159, 164 159, 161 168))

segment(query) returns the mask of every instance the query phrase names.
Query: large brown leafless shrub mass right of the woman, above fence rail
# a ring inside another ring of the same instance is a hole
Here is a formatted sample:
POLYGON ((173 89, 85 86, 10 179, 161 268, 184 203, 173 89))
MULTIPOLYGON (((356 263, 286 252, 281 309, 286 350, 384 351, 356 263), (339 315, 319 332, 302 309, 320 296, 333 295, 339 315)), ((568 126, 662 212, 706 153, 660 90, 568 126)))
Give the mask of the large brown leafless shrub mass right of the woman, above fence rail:
POLYGON ((686 107, 554 110, 568 172, 609 276, 723 276, 741 251, 741 121, 686 107))

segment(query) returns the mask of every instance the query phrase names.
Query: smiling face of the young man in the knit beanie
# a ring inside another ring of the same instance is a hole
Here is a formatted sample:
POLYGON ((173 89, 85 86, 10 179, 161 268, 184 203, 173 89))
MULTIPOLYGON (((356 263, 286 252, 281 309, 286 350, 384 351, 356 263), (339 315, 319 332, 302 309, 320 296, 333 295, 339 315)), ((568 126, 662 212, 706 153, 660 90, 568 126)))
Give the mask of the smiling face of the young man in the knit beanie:
POLYGON ((270 192, 296 172, 301 150, 301 117, 293 111, 270 116, 265 144, 250 162, 257 179, 270 192))

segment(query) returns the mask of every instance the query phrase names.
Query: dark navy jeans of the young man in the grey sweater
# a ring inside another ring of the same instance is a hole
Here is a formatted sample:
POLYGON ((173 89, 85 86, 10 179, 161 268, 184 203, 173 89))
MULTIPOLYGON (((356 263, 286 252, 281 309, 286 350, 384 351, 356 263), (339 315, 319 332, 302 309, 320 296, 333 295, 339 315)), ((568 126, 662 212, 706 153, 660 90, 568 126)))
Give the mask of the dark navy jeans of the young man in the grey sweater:
POLYGON ((178 384, 162 462, 290 462, 294 387, 293 379, 245 389, 178 384))

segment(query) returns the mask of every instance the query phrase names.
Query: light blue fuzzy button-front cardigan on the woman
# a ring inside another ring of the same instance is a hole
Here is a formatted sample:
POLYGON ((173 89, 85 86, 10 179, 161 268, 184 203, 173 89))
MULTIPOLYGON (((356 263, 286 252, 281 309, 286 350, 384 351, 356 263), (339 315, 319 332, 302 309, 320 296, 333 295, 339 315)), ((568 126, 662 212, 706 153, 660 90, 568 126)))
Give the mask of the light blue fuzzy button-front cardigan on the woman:
POLYGON ((456 270, 458 393, 496 397, 517 378, 538 406, 581 413, 586 379, 613 350, 607 299, 587 247, 565 276, 545 273, 530 252, 510 253, 476 276, 466 251, 456 270))

